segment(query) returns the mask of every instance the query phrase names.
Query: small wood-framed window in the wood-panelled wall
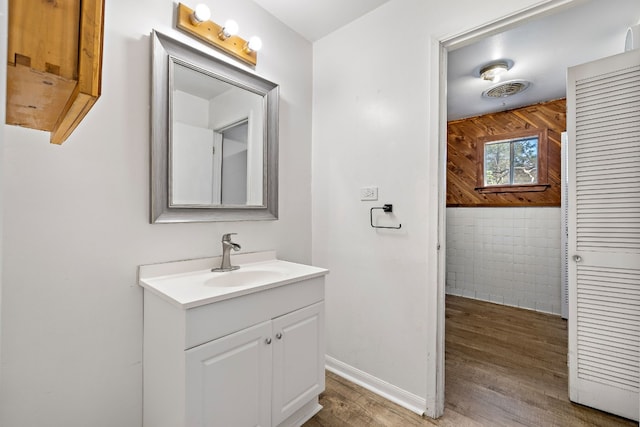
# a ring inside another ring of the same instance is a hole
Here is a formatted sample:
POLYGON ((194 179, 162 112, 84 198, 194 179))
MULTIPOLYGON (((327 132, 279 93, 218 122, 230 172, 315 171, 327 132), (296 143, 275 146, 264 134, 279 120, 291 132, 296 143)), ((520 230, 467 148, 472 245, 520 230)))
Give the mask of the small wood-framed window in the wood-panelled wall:
POLYGON ((547 185, 547 130, 478 138, 481 193, 544 191, 547 185))

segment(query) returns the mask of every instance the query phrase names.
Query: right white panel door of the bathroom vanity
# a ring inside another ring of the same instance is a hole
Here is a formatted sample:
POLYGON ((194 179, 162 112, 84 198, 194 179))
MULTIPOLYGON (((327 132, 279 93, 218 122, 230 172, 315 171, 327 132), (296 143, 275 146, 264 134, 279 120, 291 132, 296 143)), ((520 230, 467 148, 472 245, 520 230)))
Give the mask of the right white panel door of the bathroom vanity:
POLYGON ((276 426, 324 390, 324 303, 273 320, 276 426))

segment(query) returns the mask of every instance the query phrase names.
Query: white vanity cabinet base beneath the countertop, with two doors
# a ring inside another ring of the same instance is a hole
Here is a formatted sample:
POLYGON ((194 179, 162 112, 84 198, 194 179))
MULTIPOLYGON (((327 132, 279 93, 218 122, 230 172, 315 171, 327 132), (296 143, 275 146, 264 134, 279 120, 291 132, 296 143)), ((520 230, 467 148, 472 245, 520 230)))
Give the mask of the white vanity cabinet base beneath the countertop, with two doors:
POLYGON ((145 290, 144 425, 299 426, 321 409, 324 278, 190 309, 145 290))

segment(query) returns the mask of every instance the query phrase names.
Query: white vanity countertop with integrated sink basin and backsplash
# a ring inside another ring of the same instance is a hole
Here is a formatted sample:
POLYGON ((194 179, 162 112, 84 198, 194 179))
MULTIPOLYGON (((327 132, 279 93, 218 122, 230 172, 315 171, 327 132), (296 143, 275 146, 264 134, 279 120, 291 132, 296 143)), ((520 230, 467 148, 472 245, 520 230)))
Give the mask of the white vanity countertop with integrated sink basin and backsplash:
POLYGON ((239 270, 212 272, 221 257, 142 265, 138 284, 170 303, 193 308, 301 280, 324 276, 329 270, 278 260, 275 252, 231 255, 239 270))

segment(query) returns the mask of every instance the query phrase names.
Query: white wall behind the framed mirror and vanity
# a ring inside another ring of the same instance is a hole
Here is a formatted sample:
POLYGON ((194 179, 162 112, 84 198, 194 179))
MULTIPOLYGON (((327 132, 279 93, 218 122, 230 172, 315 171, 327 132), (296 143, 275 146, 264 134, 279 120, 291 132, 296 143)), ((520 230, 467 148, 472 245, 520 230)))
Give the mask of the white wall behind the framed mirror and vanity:
POLYGON ((243 252, 311 261, 311 45, 249 0, 206 2, 261 36, 256 72, 281 85, 280 219, 149 224, 149 34, 203 45, 172 29, 173 0, 107 1, 87 117, 60 147, 5 131, 3 427, 141 426, 138 265, 219 255, 225 232, 243 252))

